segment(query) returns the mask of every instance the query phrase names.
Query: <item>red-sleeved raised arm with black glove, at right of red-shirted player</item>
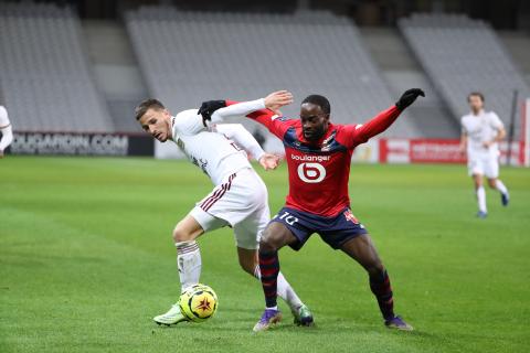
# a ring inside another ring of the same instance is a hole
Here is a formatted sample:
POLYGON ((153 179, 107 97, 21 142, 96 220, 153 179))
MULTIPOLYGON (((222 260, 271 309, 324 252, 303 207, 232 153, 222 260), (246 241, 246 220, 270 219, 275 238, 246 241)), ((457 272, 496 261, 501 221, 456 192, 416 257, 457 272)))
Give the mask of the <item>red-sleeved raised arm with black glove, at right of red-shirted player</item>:
POLYGON ((372 137, 386 130, 398 119, 400 114, 416 100, 418 96, 425 97, 425 93, 420 88, 411 88, 405 90, 394 106, 381 111, 367 122, 357 125, 350 129, 352 133, 352 147, 364 143, 372 137))

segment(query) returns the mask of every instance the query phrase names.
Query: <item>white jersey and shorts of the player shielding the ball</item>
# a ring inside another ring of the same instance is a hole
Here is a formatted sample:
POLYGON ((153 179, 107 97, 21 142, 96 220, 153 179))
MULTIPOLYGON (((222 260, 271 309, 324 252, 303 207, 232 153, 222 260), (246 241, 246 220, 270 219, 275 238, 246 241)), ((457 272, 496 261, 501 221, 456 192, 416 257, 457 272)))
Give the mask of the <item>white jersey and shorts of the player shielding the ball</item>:
POLYGON ((256 160, 265 152, 241 124, 215 122, 264 107, 263 99, 234 104, 216 110, 208 127, 197 109, 181 111, 171 119, 173 141, 215 184, 197 203, 191 216, 204 232, 232 226, 236 246, 244 249, 258 248, 259 236, 271 218, 267 188, 251 168, 245 151, 256 160))

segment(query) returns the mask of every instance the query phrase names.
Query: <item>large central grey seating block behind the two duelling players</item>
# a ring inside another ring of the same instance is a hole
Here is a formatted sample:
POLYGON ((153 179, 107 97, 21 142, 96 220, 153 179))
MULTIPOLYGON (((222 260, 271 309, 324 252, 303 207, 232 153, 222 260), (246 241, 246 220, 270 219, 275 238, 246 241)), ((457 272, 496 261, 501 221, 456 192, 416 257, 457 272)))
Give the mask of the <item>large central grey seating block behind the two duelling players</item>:
MULTIPOLYGON (((149 92, 172 110, 285 88, 295 104, 284 114, 296 116, 300 100, 317 93, 330 99, 332 120, 344 124, 361 122, 396 99, 346 18, 144 7, 125 19, 149 92)), ((390 131, 418 133, 406 119, 390 131)))

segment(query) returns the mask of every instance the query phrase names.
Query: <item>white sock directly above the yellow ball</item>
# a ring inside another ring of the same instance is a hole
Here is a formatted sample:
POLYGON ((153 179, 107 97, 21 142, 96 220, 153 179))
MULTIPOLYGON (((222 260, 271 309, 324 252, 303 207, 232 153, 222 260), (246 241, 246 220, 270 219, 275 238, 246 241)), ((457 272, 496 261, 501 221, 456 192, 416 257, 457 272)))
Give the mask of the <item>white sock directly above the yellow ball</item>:
POLYGON ((180 289, 184 291, 188 287, 199 284, 202 267, 201 252, 195 240, 179 242, 174 246, 177 246, 180 289))

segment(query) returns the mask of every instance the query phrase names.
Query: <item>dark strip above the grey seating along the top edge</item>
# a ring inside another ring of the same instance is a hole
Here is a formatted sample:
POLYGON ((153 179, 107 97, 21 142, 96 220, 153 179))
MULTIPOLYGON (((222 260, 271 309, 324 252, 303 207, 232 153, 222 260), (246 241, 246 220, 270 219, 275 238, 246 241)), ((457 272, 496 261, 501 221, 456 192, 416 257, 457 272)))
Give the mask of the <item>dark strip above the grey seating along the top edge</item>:
POLYGON ((49 1, 76 7, 82 18, 116 19, 124 9, 141 4, 177 6, 183 10, 290 12, 299 8, 326 9, 353 18, 361 25, 394 25, 398 18, 412 12, 442 11, 466 13, 490 22, 496 29, 528 30, 530 4, 523 0, 85 0, 49 1))

